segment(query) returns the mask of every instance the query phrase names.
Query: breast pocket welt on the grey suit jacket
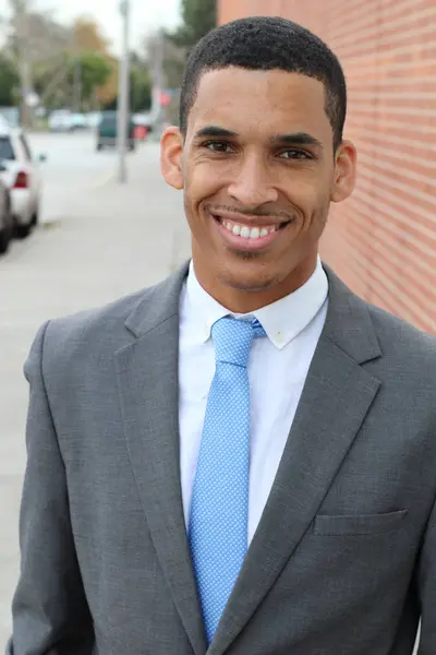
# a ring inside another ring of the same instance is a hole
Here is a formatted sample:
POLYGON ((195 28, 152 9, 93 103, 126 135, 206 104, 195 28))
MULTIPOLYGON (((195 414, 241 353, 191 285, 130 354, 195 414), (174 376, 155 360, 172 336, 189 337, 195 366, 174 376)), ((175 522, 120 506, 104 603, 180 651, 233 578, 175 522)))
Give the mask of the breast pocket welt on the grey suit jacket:
POLYGON ((408 510, 388 514, 365 514, 329 516, 318 514, 315 519, 315 535, 376 535, 397 529, 404 520, 408 510))

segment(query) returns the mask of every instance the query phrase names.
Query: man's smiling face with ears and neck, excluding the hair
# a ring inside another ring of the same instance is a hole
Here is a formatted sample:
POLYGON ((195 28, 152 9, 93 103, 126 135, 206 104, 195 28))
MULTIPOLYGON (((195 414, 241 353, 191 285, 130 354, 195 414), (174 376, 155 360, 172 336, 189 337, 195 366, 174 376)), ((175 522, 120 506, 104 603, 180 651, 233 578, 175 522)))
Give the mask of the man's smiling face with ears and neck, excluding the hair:
POLYGON ((355 152, 334 153, 322 82, 286 71, 203 74, 183 139, 162 138, 162 172, 183 189, 202 286, 253 311, 304 284, 330 201, 353 188, 355 152))

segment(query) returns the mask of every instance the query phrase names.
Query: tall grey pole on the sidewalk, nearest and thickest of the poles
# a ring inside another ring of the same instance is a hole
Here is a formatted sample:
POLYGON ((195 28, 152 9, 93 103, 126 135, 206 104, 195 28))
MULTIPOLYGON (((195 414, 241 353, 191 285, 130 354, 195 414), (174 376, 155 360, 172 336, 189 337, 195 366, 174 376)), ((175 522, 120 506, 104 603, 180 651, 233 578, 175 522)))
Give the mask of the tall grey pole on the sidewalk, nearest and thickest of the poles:
POLYGON ((119 154, 119 181, 128 181, 126 155, 130 114, 130 49, 129 49, 129 23, 130 23, 130 0, 121 0, 120 13, 123 19, 122 34, 122 56, 119 74, 118 88, 118 154, 119 154))

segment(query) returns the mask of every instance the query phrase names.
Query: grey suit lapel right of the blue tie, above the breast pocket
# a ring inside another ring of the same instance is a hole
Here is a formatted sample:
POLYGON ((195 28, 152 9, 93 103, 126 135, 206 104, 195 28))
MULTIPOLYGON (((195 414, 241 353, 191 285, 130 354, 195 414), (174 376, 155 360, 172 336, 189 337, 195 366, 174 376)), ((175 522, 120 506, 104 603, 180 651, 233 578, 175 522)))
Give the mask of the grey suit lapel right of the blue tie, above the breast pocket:
POLYGON ((379 386, 361 366, 380 355, 366 306, 327 273, 327 322, 271 493, 208 655, 228 648, 274 585, 310 528, 379 386))

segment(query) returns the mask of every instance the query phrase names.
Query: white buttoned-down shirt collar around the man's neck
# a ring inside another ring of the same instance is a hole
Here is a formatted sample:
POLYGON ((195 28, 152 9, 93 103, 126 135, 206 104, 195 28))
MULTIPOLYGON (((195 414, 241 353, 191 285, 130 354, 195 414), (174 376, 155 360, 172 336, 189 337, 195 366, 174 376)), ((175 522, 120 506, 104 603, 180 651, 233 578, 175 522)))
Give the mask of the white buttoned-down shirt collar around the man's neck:
POLYGON ((251 314, 234 314, 201 286, 191 261, 184 301, 191 315, 195 315, 194 330, 199 343, 209 340, 211 326, 223 317, 254 317, 262 323, 270 342, 281 350, 313 321, 326 302, 327 295, 328 279, 318 258, 315 272, 302 287, 251 314))

